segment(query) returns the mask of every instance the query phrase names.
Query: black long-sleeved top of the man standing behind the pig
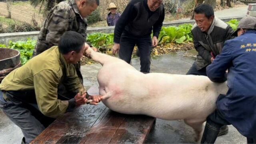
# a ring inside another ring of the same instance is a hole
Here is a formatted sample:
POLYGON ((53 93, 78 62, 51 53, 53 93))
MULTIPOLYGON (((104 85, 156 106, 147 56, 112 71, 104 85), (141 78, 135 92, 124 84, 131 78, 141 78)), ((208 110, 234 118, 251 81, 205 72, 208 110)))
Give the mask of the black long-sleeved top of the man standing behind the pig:
POLYGON ((148 8, 147 0, 131 0, 118 19, 114 30, 114 42, 120 43, 123 32, 140 37, 153 35, 158 37, 164 21, 164 5, 154 12, 148 8))

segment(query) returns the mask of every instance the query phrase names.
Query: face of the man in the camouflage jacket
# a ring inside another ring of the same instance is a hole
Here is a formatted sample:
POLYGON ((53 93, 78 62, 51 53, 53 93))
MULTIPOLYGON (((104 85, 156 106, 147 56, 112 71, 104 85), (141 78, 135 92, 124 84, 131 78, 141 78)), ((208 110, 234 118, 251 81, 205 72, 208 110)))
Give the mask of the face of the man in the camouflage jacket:
POLYGON ((79 10, 79 13, 83 18, 85 18, 86 16, 89 16, 98 7, 96 2, 87 3, 86 0, 80 0, 76 4, 79 10))

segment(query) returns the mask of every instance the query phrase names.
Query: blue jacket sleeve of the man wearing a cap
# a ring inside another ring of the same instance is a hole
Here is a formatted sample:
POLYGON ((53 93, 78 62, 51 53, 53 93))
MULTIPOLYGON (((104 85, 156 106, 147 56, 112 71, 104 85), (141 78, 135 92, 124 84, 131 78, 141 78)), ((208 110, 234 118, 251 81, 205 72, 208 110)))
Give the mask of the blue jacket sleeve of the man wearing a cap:
POLYGON ((206 67, 206 74, 213 82, 226 81, 226 70, 232 65, 232 54, 228 42, 224 43, 222 53, 216 56, 215 60, 206 67))

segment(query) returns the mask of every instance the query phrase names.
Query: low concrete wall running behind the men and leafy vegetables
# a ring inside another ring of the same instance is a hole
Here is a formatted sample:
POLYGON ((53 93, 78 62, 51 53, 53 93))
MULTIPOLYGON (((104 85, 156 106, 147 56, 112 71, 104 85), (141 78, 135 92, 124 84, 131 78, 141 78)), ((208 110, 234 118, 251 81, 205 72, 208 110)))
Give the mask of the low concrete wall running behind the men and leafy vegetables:
MULTIPOLYGON (((224 22, 229 21, 231 19, 242 19, 243 17, 226 17, 221 18, 224 22)), ((180 24, 194 24, 194 20, 176 20, 172 22, 164 22, 163 26, 178 26, 180 24)), ((88 27, 87 33, 91 34, 94 32, 103 32, 103 33, 113 33, 114 32, 114 26, 107 26, 107 27, 88 27)), ((22 40, 25 41, 27 38, 31 38, 33 40, 36 40, 38 37, 39 31, 34 32, 14 32, 14 33, 4 33, 0 34, 0 44, 9 44, 9 41, 18 41, 22 40)))

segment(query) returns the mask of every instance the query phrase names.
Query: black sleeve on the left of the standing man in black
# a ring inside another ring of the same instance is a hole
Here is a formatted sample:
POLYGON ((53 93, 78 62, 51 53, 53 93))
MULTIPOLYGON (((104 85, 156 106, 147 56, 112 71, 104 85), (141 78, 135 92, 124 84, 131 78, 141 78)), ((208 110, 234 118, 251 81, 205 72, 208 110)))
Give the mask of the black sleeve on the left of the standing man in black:
POLYGON ((134 8, 133 1, 129 2, 126 6, 124 12, 116 22, 115 30, 114 30, 114 42, 116 44, 120 43, 120 38, 122 32, 124 31, 125 26, 132 21, 135 16, 137 16, 137 10, 134 8))

